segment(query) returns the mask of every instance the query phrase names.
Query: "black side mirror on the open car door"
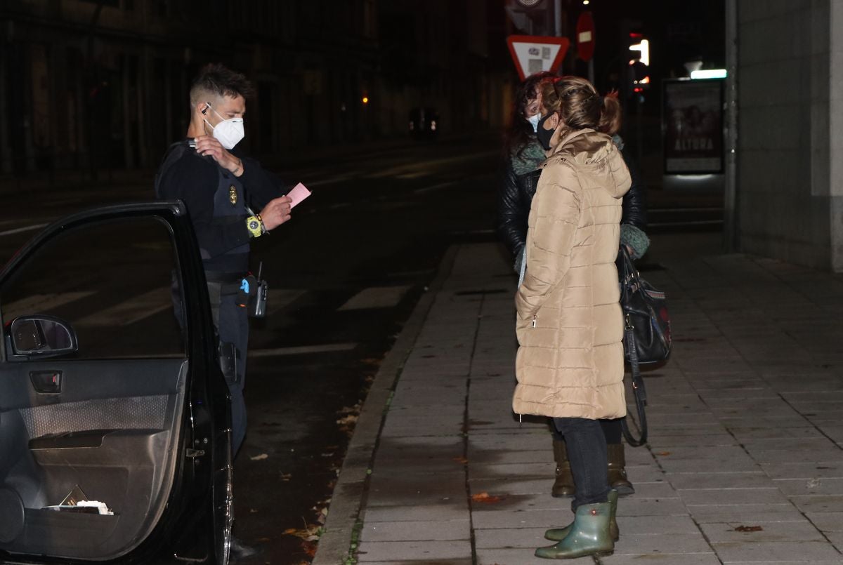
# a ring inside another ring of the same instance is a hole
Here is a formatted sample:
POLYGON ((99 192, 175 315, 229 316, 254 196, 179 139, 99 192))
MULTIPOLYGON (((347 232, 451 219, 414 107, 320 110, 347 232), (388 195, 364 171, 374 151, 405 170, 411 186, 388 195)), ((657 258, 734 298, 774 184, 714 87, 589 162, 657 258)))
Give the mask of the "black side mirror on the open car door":
POLYGON ((76 333, 70 324, 54 316, 20 316, 9 324, 9 358, 55 357, 76 353, 76 333))

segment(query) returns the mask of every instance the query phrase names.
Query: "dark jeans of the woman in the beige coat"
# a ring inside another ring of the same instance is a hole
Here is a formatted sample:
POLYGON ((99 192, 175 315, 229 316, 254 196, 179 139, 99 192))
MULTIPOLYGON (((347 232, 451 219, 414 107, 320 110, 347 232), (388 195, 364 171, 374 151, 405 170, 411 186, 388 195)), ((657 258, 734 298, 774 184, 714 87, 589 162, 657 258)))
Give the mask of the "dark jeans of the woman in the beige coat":
POLYGON ((577 491, 572 509, 583 504, 606 502, 609 494, 609 462, 606 438, 599 420, 588 418, 553 418, 553 425, 565 437, 568 461, 577 491))

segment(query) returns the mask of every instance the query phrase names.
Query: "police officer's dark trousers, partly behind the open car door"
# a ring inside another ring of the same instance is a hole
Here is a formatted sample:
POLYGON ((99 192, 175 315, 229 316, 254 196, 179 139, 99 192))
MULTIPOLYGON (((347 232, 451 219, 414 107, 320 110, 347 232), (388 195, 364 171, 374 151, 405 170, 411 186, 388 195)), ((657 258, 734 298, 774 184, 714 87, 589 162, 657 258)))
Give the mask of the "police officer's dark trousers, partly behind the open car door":
POLYGON ((243 387, 246 381, 246 352, 249 347, 249 314, 246 308, 238 306, 237 295, 220 296, 220 285, 208 283, 208 295, 211 298, 211 313, 217 326, 219 339, 223 343, 234 344, 237 348, 237 382, 226 379, 231 392, 231 448, 237 455, 246 436, 246 402, 243 387))

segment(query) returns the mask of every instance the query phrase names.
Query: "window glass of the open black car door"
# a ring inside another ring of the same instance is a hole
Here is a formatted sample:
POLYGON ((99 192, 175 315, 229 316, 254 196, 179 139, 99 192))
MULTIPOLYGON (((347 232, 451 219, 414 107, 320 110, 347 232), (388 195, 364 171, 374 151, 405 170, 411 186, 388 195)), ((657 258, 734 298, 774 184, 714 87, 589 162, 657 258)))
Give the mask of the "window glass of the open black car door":
POLYGON ((77 359, 183 355, 175 262, 169 228, 154 217, 62 234, 0 289, 3 322, 59 317, 78 336, 77 359))

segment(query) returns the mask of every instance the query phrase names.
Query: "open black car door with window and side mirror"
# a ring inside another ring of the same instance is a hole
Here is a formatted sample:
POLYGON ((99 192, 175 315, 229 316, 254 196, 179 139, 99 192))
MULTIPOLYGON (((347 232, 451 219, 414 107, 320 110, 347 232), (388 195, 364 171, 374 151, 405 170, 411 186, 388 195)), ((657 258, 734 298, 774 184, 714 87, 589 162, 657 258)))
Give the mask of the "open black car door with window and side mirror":
POLYGON ((53 223, 0 316, 0 562, 225 565, 228 387, 185 206, 53 223))

